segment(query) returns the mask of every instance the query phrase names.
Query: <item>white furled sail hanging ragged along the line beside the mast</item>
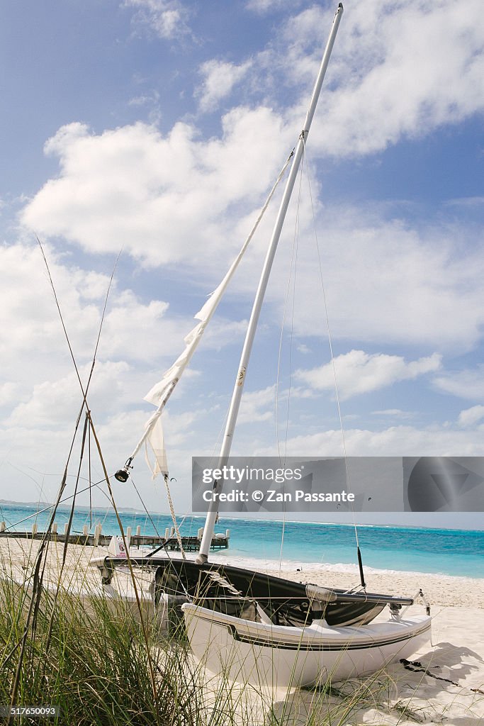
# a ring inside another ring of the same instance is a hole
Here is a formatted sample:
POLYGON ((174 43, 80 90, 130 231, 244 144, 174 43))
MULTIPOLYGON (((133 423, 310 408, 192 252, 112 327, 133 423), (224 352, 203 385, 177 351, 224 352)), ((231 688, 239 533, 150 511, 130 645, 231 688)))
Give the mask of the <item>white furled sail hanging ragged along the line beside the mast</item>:
POLYGON ((263 208, 261 209, 261 212, 259 213, 259 216, 250 231, 249 236, 247 237, 247 240, 245 240, 242 248, 239 251, 239 254, 232 262, 228 272, 226 273, 220 285, 218 285, 216 290, 211 293, 205 305, 194 316, 195 319, 200 320, 200 322, 195 325, 193 330, 191 330, 189 334, 186 335, 186 338, 184 338, 184 351, 181 353, 181 355, 179 355, 173 365, 168 368, 168 370, 163 374, 163 378, 161 378, 158 383, 155 383, 155 386, 153 386, 151 390, 148 391, 147 395, 144 396, 144 400, 156 406, 157 409, 147 421, 147 424, 144 427, 143 436, 141 436, 141 439, 139 440, 136 448, 134 449, 134 452, 131 454, 131 457, 129 457, 126 467, 131 465, 131 461, 139 452, 141 446, 144 445, 145 458, 147 460, 149 469, 152 472, 153 478, 155 478, 158 474, 168 476, 168 462, 163 439, 163 426, 161 423, 161 415, 163 413, 163 409, 165 408, 165 405, 170 398, 171 393, 173 393, 173 388, 175 388, 176 384, 179 382, 181 375, 183 374, 185 368, 192 359, 192 355, 194 354, 198 343, 200 343, 202 335, 205 332, 205 328, 210 322, 210 319, 213 317, 213 314, 218 307, 218 303, 221 301, 223 293, 225 293, 225 290, 228 287, 229 282, 234 275, 234 272, 239 266, 239 262, 242 260, 242 257, 245 254, 245 250, 247 250, 247 247, 250 244, 250 240, 252 240, 255 234, 255 230, 258 228, 263 214, 266 211, 268 204, 271 201, 272 196, 274 195, 274 192, 276 191, 276 187, 279 184, 279 181, 281 181, 282 177, 284 176, 284 172, 290 164, 292 154, 293 152, 291 152, 279 176, 277 177, 276 183, 274 184, 274 187, 272 187, 271 192, 269 193, 266 202, 264 203, 263 208), (151 454, 155 457, 154 461, 152 461, 151 454))

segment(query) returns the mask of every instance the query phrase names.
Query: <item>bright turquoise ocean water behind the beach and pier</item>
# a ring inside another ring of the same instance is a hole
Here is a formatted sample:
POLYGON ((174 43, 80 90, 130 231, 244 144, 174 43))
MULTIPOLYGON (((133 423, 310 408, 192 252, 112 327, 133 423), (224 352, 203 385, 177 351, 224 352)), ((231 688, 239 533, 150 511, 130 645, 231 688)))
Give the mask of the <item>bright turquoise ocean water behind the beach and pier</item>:
MULTIPOLYGON (((69 517, 68 508, 57 510, 59 531, 69 517)), ((171 527, 169 515, 123 512, 123 527, 141 526, 142 534, 165 534, 171 527)), ((49 520, 49 512, 36 514, 28 505, 0 505, 0 520, 14 531, 31 531, 37 522, 41 531, 49 520)), ((181 523, 181 534, 196 535, 205 518, 190 517, 181 523)), ((75 512, 73 531, 81 532, 87 524, 102 524, 105 534, 119 534, 112 510, 93 510, 92 518, 84 507, 75 512)), ((221 518, 216 531, 230 529, 229 550, 214 553, 213 560, 245 564, 247 560, 300 567, 317 565, 329 569, 357 571, 356 537, 353 526, 256 521, 221 518), (282 535, 284 535, 281 549, 282 535)), ((417 527, 358 526, 358 541, 366 569, 410 571, 484 578, 484 531, 457 529, 422 529, 417 527)))

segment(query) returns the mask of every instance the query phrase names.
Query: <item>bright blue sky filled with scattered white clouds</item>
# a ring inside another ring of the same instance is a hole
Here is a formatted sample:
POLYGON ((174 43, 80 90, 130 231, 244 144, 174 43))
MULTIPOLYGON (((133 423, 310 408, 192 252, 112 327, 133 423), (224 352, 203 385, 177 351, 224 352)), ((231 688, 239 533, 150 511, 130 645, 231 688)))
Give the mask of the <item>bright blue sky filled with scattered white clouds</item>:
MULTIPOLYGON (((83 401, 36 237, 84 383, 115 269, 87 396, 112 473, 298 141, 336 6, 2 5, 0 499, 54 499, 83 401)), ((481 10, 346 0, 234 454, 343 454, 329 323, 349 455, 484 455, 481 10)), ((219 445, 278 197, 163 415, 181 513, 192 455, 219 445)), ((167 511, 163 481, 134 463, 147 507, 167 511)), ((404 521, 484 526, 482 513, 404 521)))

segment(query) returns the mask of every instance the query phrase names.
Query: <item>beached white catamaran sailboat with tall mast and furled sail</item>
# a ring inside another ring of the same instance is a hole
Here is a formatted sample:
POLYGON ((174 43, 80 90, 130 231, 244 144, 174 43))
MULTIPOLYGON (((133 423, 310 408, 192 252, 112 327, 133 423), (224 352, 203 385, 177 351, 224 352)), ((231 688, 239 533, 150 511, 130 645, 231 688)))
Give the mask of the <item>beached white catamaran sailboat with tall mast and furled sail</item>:
MULTIPOLYGON (((292 166, 253 303, 218 460, 219 469, 223 469, 229 457, 272 261, 342 14, 343 5, 339 4, 303 131, 287 162, 288 165, 292 161, 292 166)), ((271 195, 273 192, 274 189, 271 195)), ((115 474, 119 481, 128 480, 134 457, 144 447, 153 476, 163 475, 169 495, 161 415, 252 234, 221 285, 195 316, 200 322, 186 337, 186 348, 181 356, 160 383, 147 394, 146 399, 157 408, 133 454, 115 474), (149 460, 149 453, 154 454, 154 462, 149 460)), ((213 482, 213 489, 218 494, 222 487, 222 478, 213 482)), ((169 496, 168 501, 171 505, 169 496)), ((171 509, 175 521, 172 505, 171 509)), ((406 617, 406 609, 414 603, 411 597, 366 592, 359 548, 361 586, 359 590, 349 592, 292 582, 231 565, 210 563, 210 543, 217 515, 216 497, 213 497, 200 552, 195 560, 186 558, 183 552, 182 558, 173 558, 168 552, 160 555, 160 548, 144 556, 135 556, 134 553, 129 555, 132 566, 148 568, 152 573, 149 597, 155 608, 162 608, 162 605, 164 608, 166 603, 181 606, 192 652, 211 672, 226 673, 232 680, 241 682, 266 682, 277 686, 309 685, 321 680, 338 681, 375 672, 395 659, 408 658, 427 643, 431 623, 428 608, 425 615, 406 617), (382 619, 385 608, 388 608, 388 617, 382 619)), ((175 529, 179 536, 178 529, 175 529)), ((102 582, 108 591, 113 574, 120 565, 126 565, 125 558, 106 556, 97 560, 102 582)))

